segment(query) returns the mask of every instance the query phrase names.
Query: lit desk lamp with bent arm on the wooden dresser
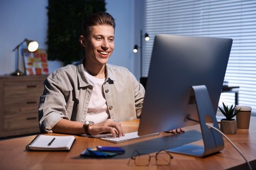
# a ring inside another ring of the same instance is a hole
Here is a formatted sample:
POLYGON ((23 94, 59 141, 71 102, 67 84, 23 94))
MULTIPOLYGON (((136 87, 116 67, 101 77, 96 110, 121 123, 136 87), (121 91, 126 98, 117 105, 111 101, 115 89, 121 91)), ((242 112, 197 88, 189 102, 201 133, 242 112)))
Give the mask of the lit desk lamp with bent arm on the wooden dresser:
POLYGON ((28 40, 28 39, 24 39, 24 41, 20 42, 20 44, 18 44, 12 51, 14 52, 15 50, 17 50, 17 62, 16 62, 16 71, 14 71, 14 73, 12 73, 11 75, 14 76, 23 76, 24 73, 22 73, 22 71, 20 71, 19 69, 19 53, 20 53, 20 46, 26 42, 27 43, 27 48, 30 52, 34 52, 35 50, 37 50, 39 44, 36 41, 33 40, 28 40))

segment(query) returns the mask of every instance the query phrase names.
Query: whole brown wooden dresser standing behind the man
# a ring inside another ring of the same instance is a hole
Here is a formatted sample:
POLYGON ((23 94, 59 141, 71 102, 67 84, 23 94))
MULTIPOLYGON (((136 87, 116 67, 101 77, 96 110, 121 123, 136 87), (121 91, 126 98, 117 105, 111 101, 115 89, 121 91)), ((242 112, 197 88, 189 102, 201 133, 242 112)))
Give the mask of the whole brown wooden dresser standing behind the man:
POLYGON ((39 132, 37 109, 45 78, 0 76, 0 137, 39 132))

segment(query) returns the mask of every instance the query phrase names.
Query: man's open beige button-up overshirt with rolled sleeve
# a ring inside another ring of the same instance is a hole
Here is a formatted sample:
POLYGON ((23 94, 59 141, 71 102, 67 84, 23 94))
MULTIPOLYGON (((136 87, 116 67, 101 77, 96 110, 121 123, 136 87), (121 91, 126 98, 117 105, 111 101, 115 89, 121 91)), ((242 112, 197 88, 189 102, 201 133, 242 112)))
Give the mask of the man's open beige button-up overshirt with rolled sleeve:
MULTIPOLYGON (((39 101, 39 127, 42 132, 52 128, 62 118, 85 122, 93 86, 87 80, 83 60, 54 71, 45 80, 39 101)), ((116 122, 134 120, 140 116, 144 87, 125 67, 106 65, 102 85, 110 118, 116 122)))

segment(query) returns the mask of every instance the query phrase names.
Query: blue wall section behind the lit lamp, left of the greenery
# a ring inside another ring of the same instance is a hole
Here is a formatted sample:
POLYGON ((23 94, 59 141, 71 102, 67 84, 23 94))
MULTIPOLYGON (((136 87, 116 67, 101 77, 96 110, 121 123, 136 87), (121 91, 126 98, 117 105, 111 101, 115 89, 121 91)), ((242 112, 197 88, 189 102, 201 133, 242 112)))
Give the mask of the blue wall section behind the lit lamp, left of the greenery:
MULTIPOLYGON (((0 2, 0 75, 15 71, 16 51, 12 52, 12 49, 25 38, 39 42, 39 48, 46 47, 45 7, 47 7, 45 0, 2 0, 0 2)), ((24 71, 21 54, 20 69, 24 71)))

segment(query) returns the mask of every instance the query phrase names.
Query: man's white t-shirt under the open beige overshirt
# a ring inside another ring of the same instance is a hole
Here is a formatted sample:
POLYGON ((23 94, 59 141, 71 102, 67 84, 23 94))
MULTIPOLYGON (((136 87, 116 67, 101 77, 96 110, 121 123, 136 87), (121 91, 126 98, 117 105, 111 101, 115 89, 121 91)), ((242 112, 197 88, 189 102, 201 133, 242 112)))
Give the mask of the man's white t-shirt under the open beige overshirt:
POLYGON ((103 97, 102 84, 105 78, 95 78, 85 69, 85 75, 93 86, 93 93, 89 102, 88 112, 85 120, 91 120, 95 123, 103 122, 109 118, 106 99, 103 97))

